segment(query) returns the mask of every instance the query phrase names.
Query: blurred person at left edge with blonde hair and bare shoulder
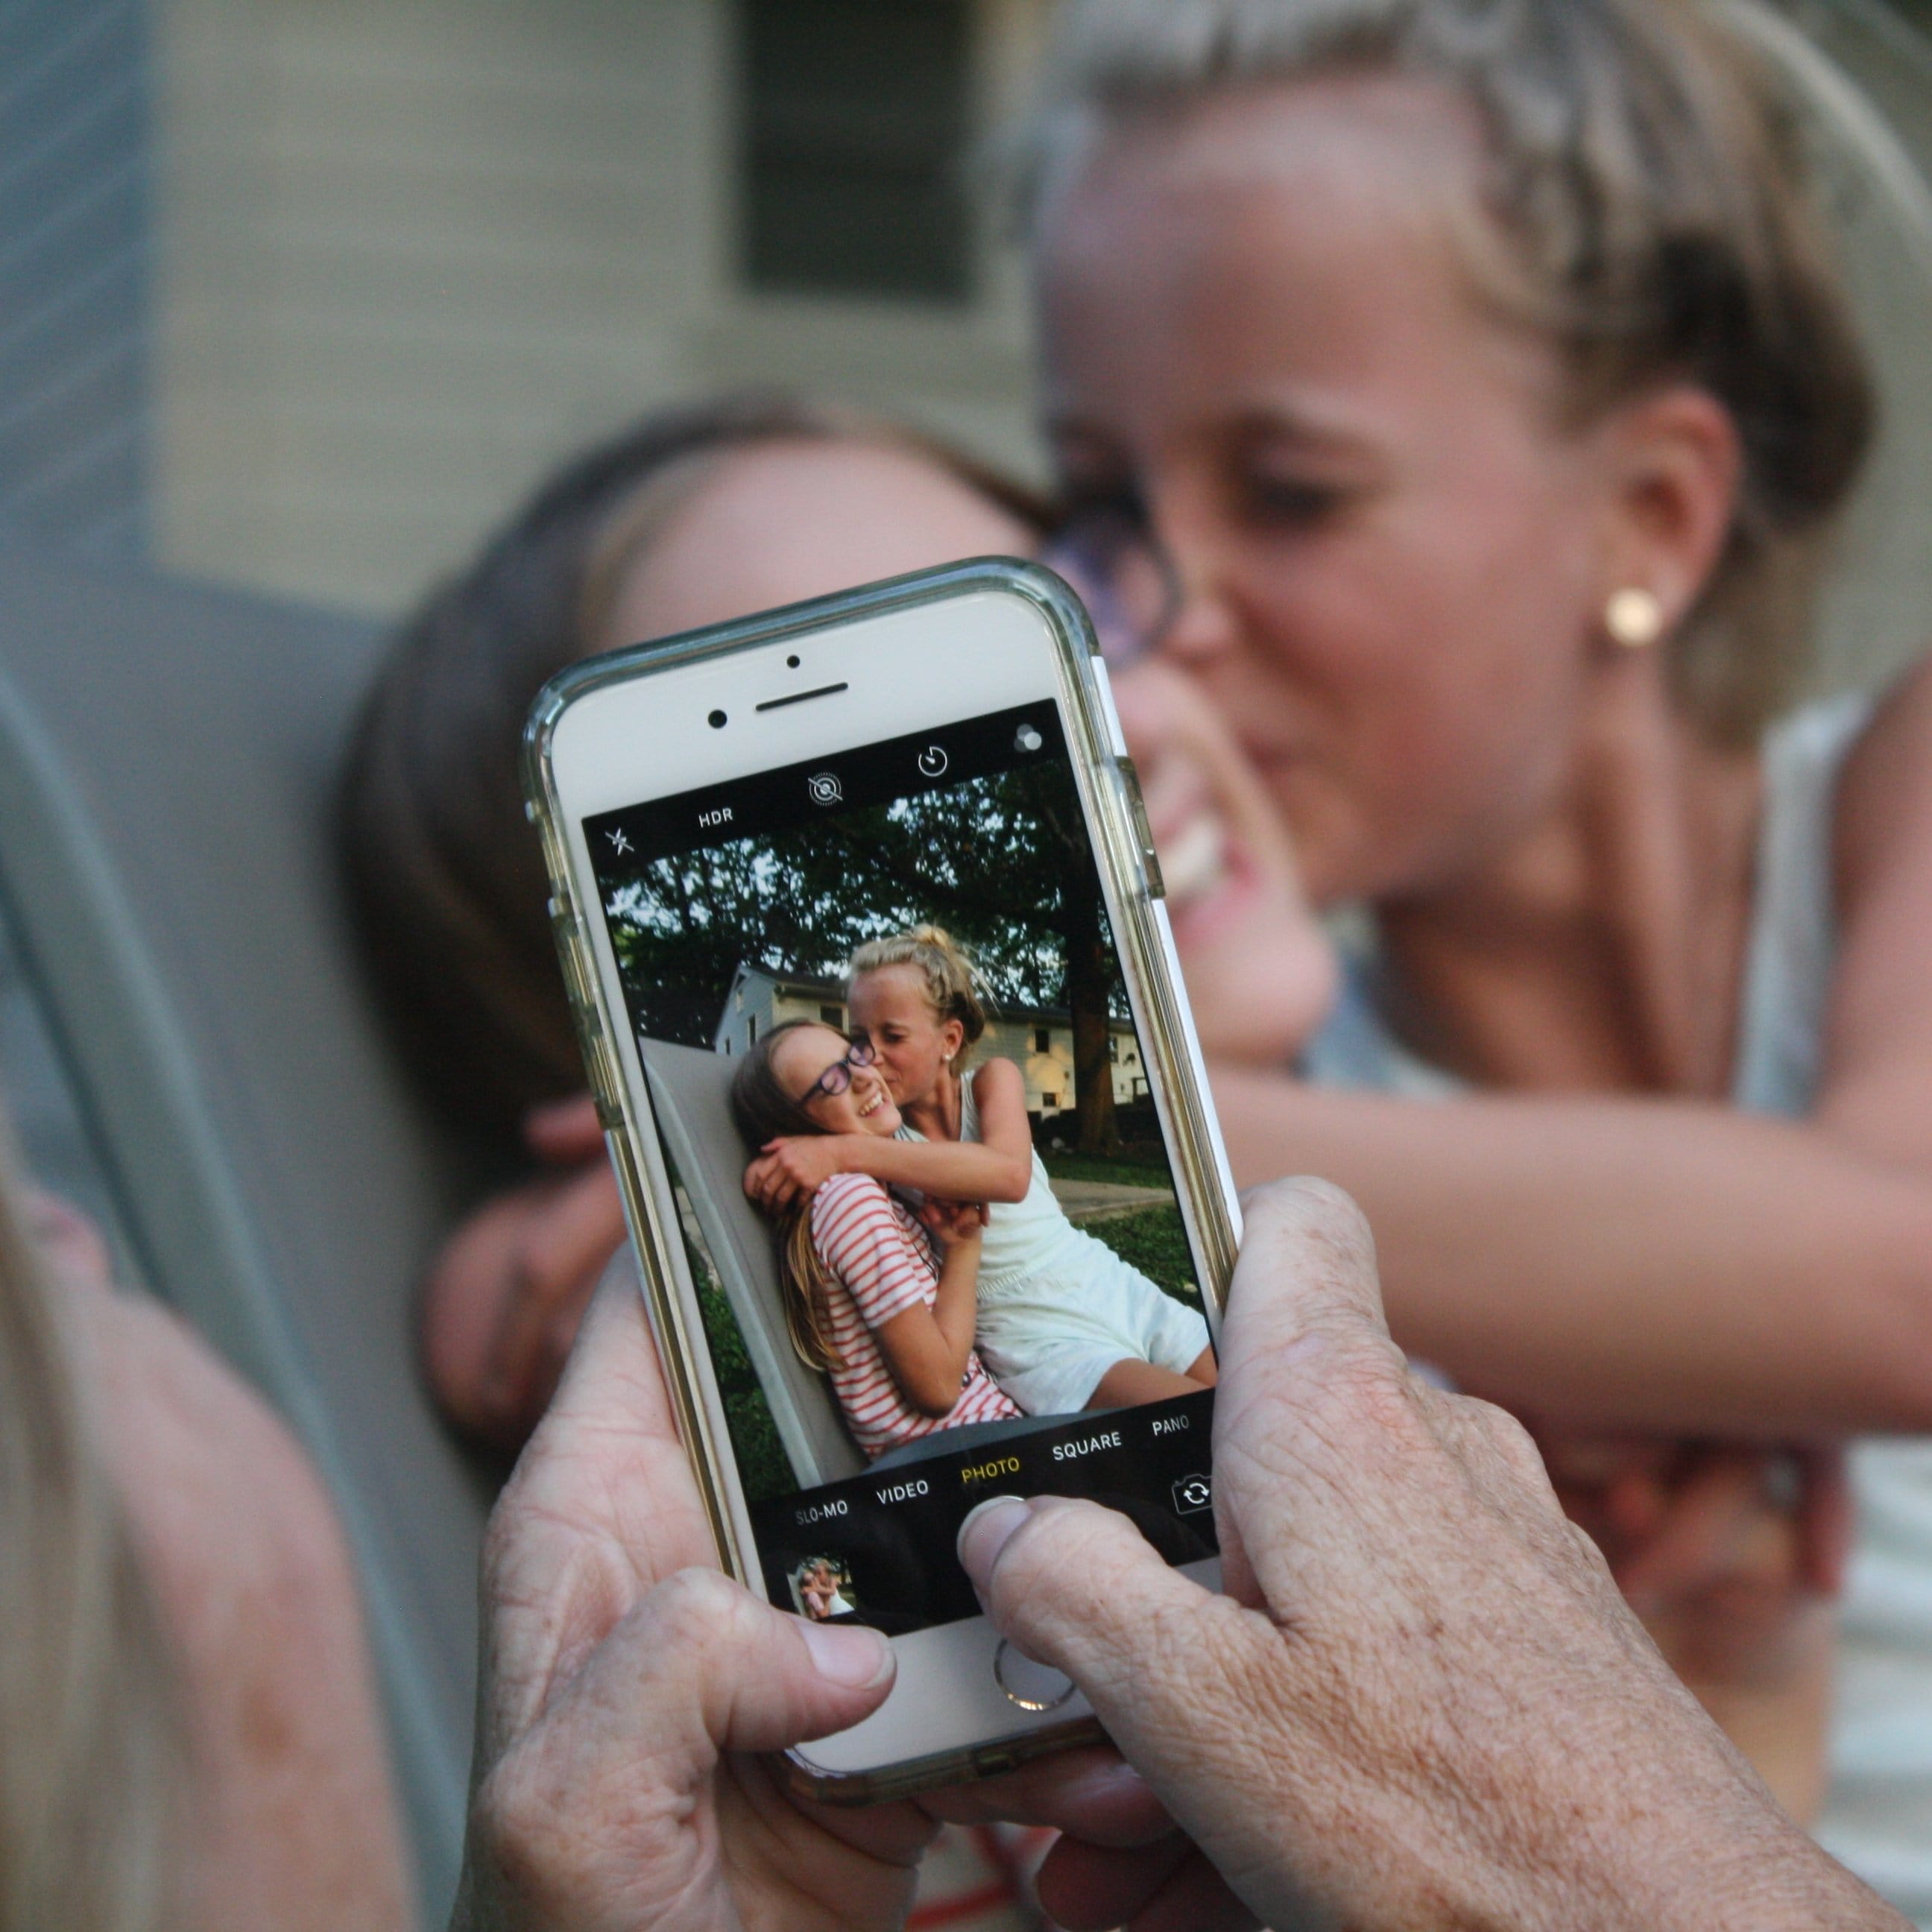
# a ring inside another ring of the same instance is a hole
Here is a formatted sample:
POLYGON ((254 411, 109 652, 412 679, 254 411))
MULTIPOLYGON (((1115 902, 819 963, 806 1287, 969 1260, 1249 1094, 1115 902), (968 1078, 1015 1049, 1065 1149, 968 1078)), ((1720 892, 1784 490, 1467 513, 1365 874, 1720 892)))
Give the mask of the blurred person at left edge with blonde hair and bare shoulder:
POLYGON ((4 1146, 0 1631, 0 1932, 415 1922, 307 1459, 4 1146))

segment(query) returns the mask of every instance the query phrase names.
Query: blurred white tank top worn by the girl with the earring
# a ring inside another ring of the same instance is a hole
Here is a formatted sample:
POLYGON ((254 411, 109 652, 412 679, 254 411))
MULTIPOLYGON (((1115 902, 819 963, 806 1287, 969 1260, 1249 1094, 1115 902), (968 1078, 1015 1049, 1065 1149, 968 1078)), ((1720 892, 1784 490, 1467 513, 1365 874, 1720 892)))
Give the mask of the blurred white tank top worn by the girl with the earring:
MULTIPOLYGON (((1731 1084, 1735 1103, 1752 1113, 1810 1113, 1837 952, 1837 779, 1870 715, 1870 697, 1837 697, 1795 713, 1764 740, 1764 829, 1731 1084)), ((1302 1059, 1304 1074, 1416 1099, 1463 1092, 1383 1028, 1372 970, 1350 968, 1333 1020, 1302 1059)), ((1932 1443, 1861 1443, 1853 1488, 1859 1538, 1839 1621, 1832 1785, 1818 1837, 1932 1932, 1932 1443)))

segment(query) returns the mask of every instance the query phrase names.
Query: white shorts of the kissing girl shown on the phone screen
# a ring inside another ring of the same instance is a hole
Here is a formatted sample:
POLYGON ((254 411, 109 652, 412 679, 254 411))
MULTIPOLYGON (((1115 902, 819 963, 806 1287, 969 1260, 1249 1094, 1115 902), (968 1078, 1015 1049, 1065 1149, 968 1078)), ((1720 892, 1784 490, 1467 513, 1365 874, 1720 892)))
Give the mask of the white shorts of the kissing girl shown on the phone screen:
POLYGON ((1030 1416, 1072 1416, 1115 1362, 1177 1376, 1208 1347, 1208 1321, 1080 1229, 1047 1265, 980 1283, 974 1347, 1030 1416))

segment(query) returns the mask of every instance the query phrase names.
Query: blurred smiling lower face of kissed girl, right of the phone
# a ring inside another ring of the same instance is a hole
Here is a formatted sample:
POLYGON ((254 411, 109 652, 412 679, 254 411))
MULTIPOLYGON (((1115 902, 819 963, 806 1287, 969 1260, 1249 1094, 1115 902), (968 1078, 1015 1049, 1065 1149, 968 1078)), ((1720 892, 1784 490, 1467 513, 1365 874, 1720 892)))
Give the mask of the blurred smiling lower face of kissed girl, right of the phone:
POLYGON ((1202 1049, 1211 1061, 1279 1066, 1327 1016, 1339 985, 1289 831, 1190 678, 1150 661, 1113 690, 1202 1049))

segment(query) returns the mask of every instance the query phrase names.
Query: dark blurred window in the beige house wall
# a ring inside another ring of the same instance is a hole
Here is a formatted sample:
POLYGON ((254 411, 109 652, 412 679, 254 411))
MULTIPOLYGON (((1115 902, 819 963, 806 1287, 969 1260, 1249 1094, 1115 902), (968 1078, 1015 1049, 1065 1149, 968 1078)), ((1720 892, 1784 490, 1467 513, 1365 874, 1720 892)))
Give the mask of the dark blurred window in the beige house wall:
POLYGON ((968 0, 740 0, 755 290, 964 301, 968 0))

